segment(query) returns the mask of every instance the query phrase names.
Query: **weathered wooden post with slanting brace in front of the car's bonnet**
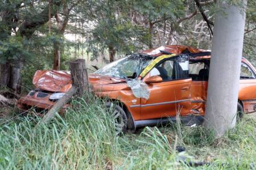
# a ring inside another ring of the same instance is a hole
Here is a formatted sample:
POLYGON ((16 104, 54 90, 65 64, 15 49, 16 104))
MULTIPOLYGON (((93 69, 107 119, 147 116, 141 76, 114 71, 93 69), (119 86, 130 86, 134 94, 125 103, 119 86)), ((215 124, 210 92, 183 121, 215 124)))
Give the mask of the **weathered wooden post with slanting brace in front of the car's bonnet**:
POLYGON ((72 96, 76 95, 78 97, 82 97, 85 91, 89 89, 85 60, 76 59, 75 61, 71 61, 69 66, 71 70, 72 87, 63 97, 56 101, 51 109, 49 109, 42 121, 40 121, 43 124, 47 124, 47 122, 51 121, 52 118, 55 117, 56 113, 59 112, 59 110, 68 103, 69 100, 71 100, 72 96))

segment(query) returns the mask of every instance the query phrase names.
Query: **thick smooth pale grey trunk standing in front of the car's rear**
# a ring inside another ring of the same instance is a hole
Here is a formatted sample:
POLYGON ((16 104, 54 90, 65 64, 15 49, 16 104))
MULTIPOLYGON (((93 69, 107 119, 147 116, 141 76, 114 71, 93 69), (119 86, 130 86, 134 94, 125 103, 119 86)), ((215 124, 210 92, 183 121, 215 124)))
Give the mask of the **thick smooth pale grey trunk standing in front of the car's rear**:
MULTIPOLYGON (((246 1, 245 1, 246 2, 246 1)), ((245 13, 241 7, 218 1, 225 14, 214 22, 205 126, 216 136, 236 125, 245 13)))

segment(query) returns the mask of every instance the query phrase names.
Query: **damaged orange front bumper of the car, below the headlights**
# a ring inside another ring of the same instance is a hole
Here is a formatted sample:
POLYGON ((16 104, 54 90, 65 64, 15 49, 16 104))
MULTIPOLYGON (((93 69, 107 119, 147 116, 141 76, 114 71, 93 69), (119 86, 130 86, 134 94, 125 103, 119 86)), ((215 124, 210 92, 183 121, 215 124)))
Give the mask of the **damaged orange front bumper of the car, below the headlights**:
MULTIPOLYGON (((35 108, 36 111, 49 110, 55 104, 54 101, 50 101, 48 97, 44 99, 35 99, 31 96, 23 96, 18 100, 17 106, 22 111, 28 111, 35 108)), ((70 104, 65 104, 63 108, 60 109, 59 113, 64 114, 66 109, 71 107, 70 104)))

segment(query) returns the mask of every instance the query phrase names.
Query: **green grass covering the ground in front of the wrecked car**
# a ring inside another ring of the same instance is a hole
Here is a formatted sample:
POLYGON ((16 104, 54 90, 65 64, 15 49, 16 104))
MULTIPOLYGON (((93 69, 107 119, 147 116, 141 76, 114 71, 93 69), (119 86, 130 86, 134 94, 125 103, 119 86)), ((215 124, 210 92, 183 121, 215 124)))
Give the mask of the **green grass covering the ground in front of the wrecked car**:
POLYGON ((101 100, 74 101, 74 109, 49 125, 39 118, 0 127, 0 169, 194 169, 179 160, 210 162, 196 169, 248 169, 256 162, 256 119, 245 117, 225 137, 203 127, 172 124, 115 136, 101 100), (177 153, 176 146, 185 153, 177 153))

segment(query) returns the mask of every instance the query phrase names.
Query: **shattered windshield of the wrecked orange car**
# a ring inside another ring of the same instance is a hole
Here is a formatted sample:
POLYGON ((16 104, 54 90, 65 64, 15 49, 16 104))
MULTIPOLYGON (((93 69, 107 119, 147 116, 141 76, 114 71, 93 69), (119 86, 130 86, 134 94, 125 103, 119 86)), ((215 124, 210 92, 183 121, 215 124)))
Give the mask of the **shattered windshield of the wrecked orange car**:
POLYGON ((109 63, 105 67, 97 70, 95 73, 123 79, 134 79, 141 74, 142 70, 150 63, 152 59, 153 57, 143 54, 131 54, 130 56, 109 63))

